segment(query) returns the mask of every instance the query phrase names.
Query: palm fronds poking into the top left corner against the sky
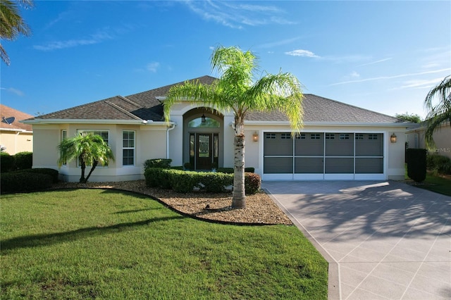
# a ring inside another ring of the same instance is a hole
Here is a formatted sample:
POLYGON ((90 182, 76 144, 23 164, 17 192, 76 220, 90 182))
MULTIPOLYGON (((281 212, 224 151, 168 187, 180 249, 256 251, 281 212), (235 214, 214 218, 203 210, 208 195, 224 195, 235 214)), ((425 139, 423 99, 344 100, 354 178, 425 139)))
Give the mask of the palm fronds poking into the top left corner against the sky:
MULTIPOLYGON (((30 27, 23 21, 19 13, 18 4, 22 4, 25 8, 34 6, 32 0, 1 0, 0 1, 0 39, 13 41, 18 35, 29 36, 31 34, 30 27)), ((6 50, 0 44, 1 60, 9 65, 10 60, 6 50)))

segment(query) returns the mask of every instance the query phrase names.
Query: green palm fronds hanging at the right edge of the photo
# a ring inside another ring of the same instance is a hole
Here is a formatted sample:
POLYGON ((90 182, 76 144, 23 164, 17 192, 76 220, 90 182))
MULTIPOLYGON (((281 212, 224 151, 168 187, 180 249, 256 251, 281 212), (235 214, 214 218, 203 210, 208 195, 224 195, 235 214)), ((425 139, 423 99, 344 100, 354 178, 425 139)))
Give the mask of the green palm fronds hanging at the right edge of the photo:
POLYGON ((424 99, 424 107, 427 109, 426 115, 426 146, 434 148, 433 133, 443 123, 451 123, 451 75, 445 77, 437 86, 428 92, 424 99), (438 98, 438 102, 433 102, 438 98))

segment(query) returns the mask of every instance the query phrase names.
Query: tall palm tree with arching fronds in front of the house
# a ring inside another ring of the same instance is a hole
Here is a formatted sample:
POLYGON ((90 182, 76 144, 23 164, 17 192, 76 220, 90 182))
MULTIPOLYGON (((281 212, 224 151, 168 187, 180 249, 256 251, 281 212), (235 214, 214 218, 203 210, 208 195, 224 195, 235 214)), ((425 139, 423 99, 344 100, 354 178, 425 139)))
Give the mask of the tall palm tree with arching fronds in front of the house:
POLYGON ((188 99, 210 108, 233 111, 235 115, 235 149, 233 208, 245 208, 245 115, 248 111, 283 111, 293 132, 302 127, 302 90, 299 80, 290 73, 266 74, 254 80, 257 57, 237 47, 217 47, 211 55, 212 70, 221 74, 212 85, 185 82, 172 87, 164 101, 164 115, 169 120, 171 107, 188 99))

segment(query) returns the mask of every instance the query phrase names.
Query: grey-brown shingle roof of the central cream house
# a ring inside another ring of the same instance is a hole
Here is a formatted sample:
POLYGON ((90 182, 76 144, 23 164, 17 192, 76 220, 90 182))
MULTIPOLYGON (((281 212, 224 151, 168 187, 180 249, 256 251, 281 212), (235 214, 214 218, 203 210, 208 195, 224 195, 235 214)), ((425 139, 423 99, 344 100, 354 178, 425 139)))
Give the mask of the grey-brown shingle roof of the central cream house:
MULTIPOLYGON (((203 76, 194 78, 192 82, 211 85, 217 78, 203 76)), ((34 120, 66 119, 66 120, 163 120, 163 105, 159 97, 164 97, 169 89, 178 82, 147 92, 129 96, 114 96, 81 106, 75 106, 63 111, 56 111, 47 115, 39 115, 34 120)), ((339 101, 326 99, 314 94, 304 94, 304 123, 403 123, 402 120, 369 111, 357 106, 351 106, 339 101)), ((286 122, 288 118, 280 111, 261 113, 248 112, 248 121, 286 122)))

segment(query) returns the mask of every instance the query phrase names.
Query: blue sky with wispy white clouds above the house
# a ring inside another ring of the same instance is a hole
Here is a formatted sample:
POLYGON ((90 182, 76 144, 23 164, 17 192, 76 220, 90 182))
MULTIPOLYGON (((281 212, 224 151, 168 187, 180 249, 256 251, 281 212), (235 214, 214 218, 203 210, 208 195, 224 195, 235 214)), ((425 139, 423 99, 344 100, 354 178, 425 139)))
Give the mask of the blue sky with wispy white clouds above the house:
POLYGON ((290 72, 304 93, 424 117, 451 74, 450 1, 35 1, 2 41, 1 104, 37 115, 211 73, 218 45, 290 72))

